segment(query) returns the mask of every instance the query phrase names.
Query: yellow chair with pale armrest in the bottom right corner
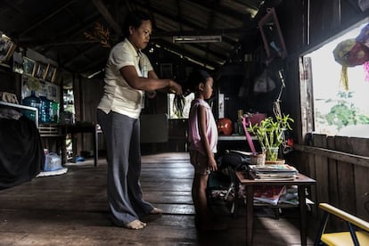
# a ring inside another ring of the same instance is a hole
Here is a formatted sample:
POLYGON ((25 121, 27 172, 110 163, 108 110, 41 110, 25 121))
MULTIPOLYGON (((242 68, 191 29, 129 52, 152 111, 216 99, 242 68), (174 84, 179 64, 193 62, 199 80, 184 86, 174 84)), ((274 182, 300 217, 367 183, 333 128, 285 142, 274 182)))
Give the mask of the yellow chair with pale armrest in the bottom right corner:
POLYGON ((314 245, 369 245, 368 222, 327 203, 320 203, 319 209, 324 210, 324 215, 314 245), (325 232, 328 219, 331 215, 344 220, 348 225, 348 231, 325 232))

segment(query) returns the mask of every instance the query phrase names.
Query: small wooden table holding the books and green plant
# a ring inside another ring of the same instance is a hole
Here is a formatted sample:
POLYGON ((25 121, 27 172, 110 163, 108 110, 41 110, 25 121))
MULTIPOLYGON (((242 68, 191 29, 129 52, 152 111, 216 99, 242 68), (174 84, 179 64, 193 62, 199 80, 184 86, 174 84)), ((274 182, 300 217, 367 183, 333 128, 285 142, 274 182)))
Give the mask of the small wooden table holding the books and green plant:
POLYGON ((252 244, 254 186, 257 185, 297 185, 299 195, 299 234, 301 245, 307 245, 307 203, 305 188, 316 184, 316 180, 299 174, 293 180, 260 180, 252 179, 249 172, 237 171, 236 176, 241 184, 246 187, 246 245, 252 244))

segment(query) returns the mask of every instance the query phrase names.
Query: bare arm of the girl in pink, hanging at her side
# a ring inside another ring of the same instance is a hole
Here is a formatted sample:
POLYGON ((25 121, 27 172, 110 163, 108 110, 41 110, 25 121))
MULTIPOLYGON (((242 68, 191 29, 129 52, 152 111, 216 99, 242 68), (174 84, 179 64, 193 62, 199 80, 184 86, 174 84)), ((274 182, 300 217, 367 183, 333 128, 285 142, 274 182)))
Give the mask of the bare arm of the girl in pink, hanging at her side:
POLYGON ((199 124, 199 134, 201 136, 201 143, 204 147, 204 150, 206 152, 206 155, 208 156, 208 166, 210 168, 210 171, 216 171, 217 170, 217 162, 214 159, 214 153, 210 150, 210 144, 208 140, 208 135, 206 134, 206 109, 202 106, 198 107, 197 110, 197 116, 198 116, 198 124, 199 124))

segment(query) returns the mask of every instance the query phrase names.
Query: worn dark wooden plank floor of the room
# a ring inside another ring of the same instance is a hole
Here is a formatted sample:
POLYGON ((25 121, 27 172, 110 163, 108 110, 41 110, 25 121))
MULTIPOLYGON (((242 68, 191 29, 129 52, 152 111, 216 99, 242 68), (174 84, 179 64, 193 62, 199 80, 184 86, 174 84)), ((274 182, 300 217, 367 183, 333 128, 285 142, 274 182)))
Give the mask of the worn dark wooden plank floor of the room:
MULTIPOLYGON (((229 228, 199 234, 194 226, 191 197, 193 168, 187 153, 143 156, 145 200, 165 213, 144 219, 143 230, 111 224, 106 201, 106 161, 67 165, 61 176, 37 177, 0 191, 0 245, 244 245, 243 206, 232 217, 221 204, 213 208, 229 228)), ((295 209, 279 219, 270 209, 257 209, 253 245, 300 245, 295 209)), ((309 216, 310 217, 310 216, 309 216)), ((316 222, 310 218, 307 244, 312 245, 316 222)))

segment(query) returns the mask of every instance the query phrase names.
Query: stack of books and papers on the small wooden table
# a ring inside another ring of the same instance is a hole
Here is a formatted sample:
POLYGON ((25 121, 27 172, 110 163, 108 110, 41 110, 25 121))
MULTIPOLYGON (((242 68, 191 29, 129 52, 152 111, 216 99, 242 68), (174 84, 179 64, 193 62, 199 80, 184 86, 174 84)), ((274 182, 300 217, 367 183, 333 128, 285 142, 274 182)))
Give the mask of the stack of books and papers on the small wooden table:
POLYGON ((293 180, 299 171, 288 164, 250 165, 250 176, 264 180, 293 180))

